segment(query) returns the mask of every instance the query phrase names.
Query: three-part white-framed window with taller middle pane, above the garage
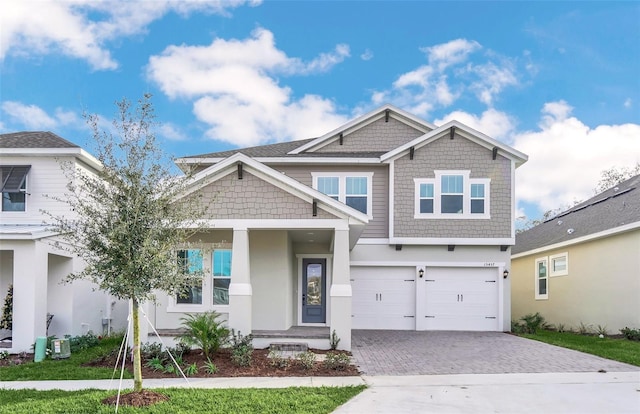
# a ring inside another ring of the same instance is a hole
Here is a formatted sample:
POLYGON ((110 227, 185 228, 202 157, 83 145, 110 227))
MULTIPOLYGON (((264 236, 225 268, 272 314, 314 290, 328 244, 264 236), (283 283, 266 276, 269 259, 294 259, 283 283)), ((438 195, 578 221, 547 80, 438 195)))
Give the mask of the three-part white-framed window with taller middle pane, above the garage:
POLYGON ((418 219, 489 219, 489 178, 470 178, 470 171, 435 171, 435 178, 415 178, 418 219))

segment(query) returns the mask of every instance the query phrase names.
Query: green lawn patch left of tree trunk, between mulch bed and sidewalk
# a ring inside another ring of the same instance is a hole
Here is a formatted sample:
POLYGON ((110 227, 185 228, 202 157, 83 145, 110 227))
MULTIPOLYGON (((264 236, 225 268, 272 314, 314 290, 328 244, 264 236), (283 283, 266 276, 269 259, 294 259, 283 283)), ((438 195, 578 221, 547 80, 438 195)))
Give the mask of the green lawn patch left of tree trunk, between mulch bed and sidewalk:
MULTIPOLYGON (((113 375, 111 368, 83 367, 82 364, 118 349, 122 338, 112 337, 100 341, 98 346, 72 353, 68 359, 45 359, 42 362, 29 362, 22 365, 0 367, 0 381, 39 381, 71 379, 109 379, 113 375)), ((116 373, 119 377, 120 370, 116 373)), ((132 378, 125 371, 125 378, 132 378)))

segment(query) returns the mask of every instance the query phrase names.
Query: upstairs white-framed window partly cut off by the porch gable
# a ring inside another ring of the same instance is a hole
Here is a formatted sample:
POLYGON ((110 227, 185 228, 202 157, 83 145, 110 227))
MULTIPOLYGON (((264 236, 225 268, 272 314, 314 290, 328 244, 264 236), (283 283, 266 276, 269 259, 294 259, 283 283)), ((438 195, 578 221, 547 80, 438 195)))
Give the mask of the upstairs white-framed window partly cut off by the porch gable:
POLYGON ((373 217, 373 173, 311 173, 313 188, 373 217))

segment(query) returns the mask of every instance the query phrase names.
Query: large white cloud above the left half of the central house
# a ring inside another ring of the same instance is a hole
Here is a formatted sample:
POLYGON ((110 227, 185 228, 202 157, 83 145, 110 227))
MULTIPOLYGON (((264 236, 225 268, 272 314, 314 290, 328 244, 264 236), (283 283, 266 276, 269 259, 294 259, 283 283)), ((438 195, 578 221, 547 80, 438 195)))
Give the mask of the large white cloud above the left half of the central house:
POLYGON ((244 40, 169 46, 149 59, 147 76, 170 98, 194 99, 194 114, 210 126, 212 139, 258 145, 309 138, 345 122, 331 100, 296 99, 276 76, 326 72, 349 55, 349 47, 339 44, 305 62, 287 56, 273 34, 259 28, 244 40))

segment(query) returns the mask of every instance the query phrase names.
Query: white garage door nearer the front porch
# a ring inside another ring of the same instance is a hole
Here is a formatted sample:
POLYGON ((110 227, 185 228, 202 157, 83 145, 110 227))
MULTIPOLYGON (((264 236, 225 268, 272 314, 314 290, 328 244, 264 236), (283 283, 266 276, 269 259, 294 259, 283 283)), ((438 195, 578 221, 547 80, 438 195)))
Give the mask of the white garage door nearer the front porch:
POLYGON ((415 267, 352 267, 352 328, 415 329, 415 273, 415 267))

